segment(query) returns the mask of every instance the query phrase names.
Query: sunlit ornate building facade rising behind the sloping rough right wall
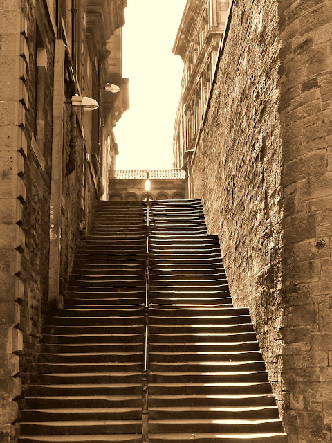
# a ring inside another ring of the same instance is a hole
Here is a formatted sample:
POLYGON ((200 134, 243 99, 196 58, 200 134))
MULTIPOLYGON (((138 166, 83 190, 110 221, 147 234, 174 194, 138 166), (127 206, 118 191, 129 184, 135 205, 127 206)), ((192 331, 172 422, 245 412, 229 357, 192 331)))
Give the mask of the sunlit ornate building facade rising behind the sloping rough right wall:
POLYGON ((187 164, 208 103, 229 1, 187 1, 173 53, 183 60, 181 98, 173 134, 174 168, 187 164))

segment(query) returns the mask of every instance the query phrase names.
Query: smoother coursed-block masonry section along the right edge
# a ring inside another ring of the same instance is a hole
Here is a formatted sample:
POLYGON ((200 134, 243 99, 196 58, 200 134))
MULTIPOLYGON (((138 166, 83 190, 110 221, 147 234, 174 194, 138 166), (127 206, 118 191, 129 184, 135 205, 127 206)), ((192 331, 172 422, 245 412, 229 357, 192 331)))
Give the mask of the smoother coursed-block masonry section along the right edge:
POLYGON ((279 0, 290 442, 331 442, 332 1, 279 0))

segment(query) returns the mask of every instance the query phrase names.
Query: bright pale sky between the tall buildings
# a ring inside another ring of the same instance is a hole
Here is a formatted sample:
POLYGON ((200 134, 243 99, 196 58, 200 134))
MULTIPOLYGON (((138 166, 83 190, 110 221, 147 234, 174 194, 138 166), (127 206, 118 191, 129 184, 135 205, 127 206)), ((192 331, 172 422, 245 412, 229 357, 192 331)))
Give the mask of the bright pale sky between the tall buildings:
POLYGON ((172 54, 186 0, 128 0, 123 77, 130 109, 114 130, 117 169, 172 168, 174 119, 183 62, 172 54))

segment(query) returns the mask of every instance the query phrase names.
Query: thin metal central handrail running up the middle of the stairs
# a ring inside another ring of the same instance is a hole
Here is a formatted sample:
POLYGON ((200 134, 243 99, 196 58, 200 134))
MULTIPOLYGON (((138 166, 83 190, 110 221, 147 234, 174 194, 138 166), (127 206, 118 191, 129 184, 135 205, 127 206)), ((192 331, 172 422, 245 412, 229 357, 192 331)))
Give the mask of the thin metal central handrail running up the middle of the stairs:
POLYGON ((147 248, 145 256, 144 355, 142 370, 142 443, 149 442, 149 268, 150 268, 150 199, 147 192, 147 248))

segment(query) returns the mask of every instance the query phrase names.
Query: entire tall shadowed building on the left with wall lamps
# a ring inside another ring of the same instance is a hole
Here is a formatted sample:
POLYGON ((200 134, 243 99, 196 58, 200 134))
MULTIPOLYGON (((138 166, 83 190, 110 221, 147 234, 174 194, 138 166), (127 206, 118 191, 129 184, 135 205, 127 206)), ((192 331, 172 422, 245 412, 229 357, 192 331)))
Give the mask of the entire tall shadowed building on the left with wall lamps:
POLYGON ((0 5, 1 443, 17 441, 21 384, 44 314, 61 305, 79 233, 89 228, 94 202, 107 197, 118 152, 113 127, 129 107, 121 71, 126 5, 0 5), (84 110, 73 96, 100 106, 84 110))

